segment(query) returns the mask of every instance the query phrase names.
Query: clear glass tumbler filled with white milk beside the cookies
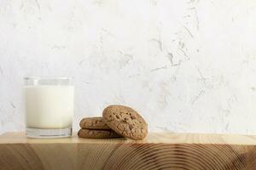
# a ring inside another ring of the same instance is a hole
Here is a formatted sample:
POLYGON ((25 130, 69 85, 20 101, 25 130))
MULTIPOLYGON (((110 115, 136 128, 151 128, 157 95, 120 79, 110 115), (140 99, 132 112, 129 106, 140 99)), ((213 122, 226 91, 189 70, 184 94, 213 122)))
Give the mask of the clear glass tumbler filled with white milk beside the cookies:
POLYGON ((68 77, 25 77, 26 136, 72 135, 74 87, 68 77))

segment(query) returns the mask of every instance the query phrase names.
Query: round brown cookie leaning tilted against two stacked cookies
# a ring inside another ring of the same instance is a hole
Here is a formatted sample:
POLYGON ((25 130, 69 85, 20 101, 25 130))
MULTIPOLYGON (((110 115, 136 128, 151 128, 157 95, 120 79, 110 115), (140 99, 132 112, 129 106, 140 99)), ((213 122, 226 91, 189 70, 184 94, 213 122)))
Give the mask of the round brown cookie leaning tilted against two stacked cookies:
POLYGON ((124 105, 110 105, 104 109, 103 122, 113 131, 131 139, 144 139, 148 134, 148 124, 137 111, 124 105))

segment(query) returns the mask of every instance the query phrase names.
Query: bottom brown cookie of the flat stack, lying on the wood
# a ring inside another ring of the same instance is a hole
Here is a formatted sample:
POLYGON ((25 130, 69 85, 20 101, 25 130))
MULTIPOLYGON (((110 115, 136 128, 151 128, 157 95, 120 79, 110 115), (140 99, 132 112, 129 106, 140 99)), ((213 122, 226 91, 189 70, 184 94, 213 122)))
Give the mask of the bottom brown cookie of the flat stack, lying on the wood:
POLYGON ((113 139, 113 138, 122 138, 118 133, 115 133, 113 130, 93 130, 81 128, 79 130, 79 138, 87 139, 113 139))

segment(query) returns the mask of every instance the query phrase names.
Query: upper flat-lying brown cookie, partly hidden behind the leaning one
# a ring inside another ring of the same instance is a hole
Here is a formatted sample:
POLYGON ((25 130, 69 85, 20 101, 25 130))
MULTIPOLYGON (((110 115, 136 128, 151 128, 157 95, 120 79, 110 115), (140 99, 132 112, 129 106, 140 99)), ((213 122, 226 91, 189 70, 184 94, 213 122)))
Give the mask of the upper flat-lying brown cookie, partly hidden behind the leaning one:
POLYGON ((102 117, 87 117, 80 121, 81 128, 88 129, 111 129, 108 125, 102 121, 102 117))

